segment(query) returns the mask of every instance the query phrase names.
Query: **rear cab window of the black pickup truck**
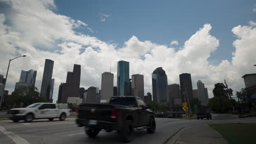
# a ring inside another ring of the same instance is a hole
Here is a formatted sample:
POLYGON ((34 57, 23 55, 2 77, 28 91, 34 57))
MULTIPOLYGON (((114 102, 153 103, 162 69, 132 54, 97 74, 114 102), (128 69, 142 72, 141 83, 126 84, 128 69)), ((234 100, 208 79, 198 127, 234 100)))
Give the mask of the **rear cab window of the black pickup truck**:
POLYGON ((131 97, 113 97, 110 99, 109 104, 126 105, 132 107, 137 106, 135 98, 131 97))

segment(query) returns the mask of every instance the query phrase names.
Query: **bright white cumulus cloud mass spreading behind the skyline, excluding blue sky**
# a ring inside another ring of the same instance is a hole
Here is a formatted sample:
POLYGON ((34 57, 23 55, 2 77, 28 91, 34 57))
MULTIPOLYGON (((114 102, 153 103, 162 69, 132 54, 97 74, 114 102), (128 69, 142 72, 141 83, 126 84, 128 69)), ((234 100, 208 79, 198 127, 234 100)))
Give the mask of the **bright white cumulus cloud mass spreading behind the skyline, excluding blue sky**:
POLYGON ((163 67, 168 84, 179 83, 179 74, 190 73, 193 88, 196 89, 196 81, 200 79, 208 88, 210 97, 214 83, 226 79, 230 88, 239 89, 244 87, 241 76, 255 73, 252 66, 256 62, 256 28, 252 24, 232 29, 237 38, 233 43, 232 61, 223 59, 218 65, 211 65, 207 59, 218 49, 219 40, 210 34, 210 23, 191 34, 178 51, 149 40, 141 41, 135 35, 125 41, 123 47, 117 47, 75 32, 75 28, 86 23, 54 13, 51 10, 56 8, 53 1, 9 3, 11 13, 0 14, 0 74, 5 74, 8 59, 27 55, 10 64, 6 87, 10 92, 19 81, 20 71, 30 69, 38 71, 36 87, 40 89, 45 58, 54 61, 55 100, 58 87, 61 82, 66 82, 67 71, 72 71, 73 64, 82 65, 80 87, 101 87, 101 74, 109 71, 110 63, 116 85, 117 62, 124 60, 130 62, 130 75, 144 75, 145 93, 152 92, 153 70, 163 67))

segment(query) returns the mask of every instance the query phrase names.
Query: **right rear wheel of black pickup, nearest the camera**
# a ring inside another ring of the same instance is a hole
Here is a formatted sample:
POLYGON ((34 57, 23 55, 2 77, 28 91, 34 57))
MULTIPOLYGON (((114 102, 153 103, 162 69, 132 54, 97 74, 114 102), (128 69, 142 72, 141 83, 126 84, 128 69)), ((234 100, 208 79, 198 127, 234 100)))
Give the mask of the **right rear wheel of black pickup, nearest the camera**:
POLYGON ((121 137, 124 142, 130 142, 133 137, 133 123, 131 120, 127 120, 121 129, 121 137))

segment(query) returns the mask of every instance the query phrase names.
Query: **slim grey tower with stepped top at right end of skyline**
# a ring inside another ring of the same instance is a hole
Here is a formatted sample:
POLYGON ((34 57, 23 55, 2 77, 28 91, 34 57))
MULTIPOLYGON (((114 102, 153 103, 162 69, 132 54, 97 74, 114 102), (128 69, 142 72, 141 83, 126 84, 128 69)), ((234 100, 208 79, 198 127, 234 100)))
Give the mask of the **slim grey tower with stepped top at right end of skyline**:
POLYGON ((201 105, 208 105, 208 92, 206 93, 205 84, 201 80, 197 81, 197 97, 201 101, 201 105))

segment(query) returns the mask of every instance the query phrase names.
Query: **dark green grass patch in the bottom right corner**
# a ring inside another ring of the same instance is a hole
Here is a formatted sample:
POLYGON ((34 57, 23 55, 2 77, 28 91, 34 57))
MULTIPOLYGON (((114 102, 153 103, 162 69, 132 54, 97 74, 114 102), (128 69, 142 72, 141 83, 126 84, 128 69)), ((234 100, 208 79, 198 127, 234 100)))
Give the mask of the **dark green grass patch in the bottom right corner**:
POLYGON ((231 144, 255 143, 256 123, 209 124, 231 144))

